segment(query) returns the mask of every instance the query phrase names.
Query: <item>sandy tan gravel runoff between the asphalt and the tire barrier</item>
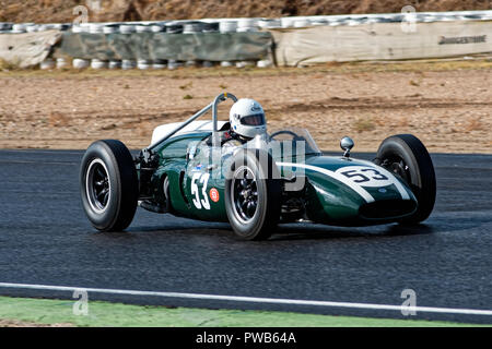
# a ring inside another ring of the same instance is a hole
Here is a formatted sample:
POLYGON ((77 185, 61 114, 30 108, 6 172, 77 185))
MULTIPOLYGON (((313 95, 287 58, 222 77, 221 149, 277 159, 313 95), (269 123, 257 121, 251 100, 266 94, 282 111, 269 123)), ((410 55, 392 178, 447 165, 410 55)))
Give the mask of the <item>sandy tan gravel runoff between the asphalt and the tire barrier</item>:
MULTIPOLYGON (((491 153, 491 60, 326 64, 305 69, 0 72, 0 148, 131 148, 222 92, 263 105, 269 128, 303 127, 325 151, 350 135, 374 152, 412 133, 430 152, 491 153)), ((230 104, 220 107, 222 119, 230 104)))

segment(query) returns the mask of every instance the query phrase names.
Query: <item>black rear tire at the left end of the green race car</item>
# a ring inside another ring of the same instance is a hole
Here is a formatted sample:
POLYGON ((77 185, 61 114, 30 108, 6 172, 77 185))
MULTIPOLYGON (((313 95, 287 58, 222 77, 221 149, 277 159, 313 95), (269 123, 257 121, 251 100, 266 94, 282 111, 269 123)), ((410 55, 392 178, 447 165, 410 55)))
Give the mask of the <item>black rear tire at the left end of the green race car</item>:
POLYGON ((80 168, 82 206, 94 228, 121 231, 131 224, 139 197, 137 170, 120 141, 91 144, 80 168))

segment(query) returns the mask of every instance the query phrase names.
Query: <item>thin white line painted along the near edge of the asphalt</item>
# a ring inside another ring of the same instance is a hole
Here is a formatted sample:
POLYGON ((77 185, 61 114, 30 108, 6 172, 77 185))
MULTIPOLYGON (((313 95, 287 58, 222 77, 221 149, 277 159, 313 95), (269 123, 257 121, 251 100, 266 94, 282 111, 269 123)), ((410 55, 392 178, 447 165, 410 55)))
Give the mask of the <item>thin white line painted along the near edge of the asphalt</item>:
POLYGON ((373 309, 373 310, 394 310, 394 311, 405 310, 407 312, 414 311, 414 312, 427 312, 427 313, 489 315, 489 316, 492 315, 492 310, 477 310, 477 309, 453 309, 453 308, 433 308, 433 306, 403 306, 403 305, 388 305, 388 304, 311 301, 311 300, 298 300, 298 299, 257 298, 257 297, 218 296, 218 294, 180 293, 180 292, 153 292, 153 291, 115 290, 115 289, 104 289, 104 288, 47 286, 47 285, 27 285, 27 284, 8 284, 8 282, 0 282, 0 287, 4 287, 4 288, 24 288, 24 289, 36 289, 36 290, 51 290, 51 291, 84 290, 86 292, 94 292, 94 293, 112 293, 112 294, 128 294, 128 296, 154 296, 154 297, 184 298, 184 299, 207 299, 207 300, 216 300, 216 301, 249 302, 249 303, 315 305, 315 306, 373 309))

